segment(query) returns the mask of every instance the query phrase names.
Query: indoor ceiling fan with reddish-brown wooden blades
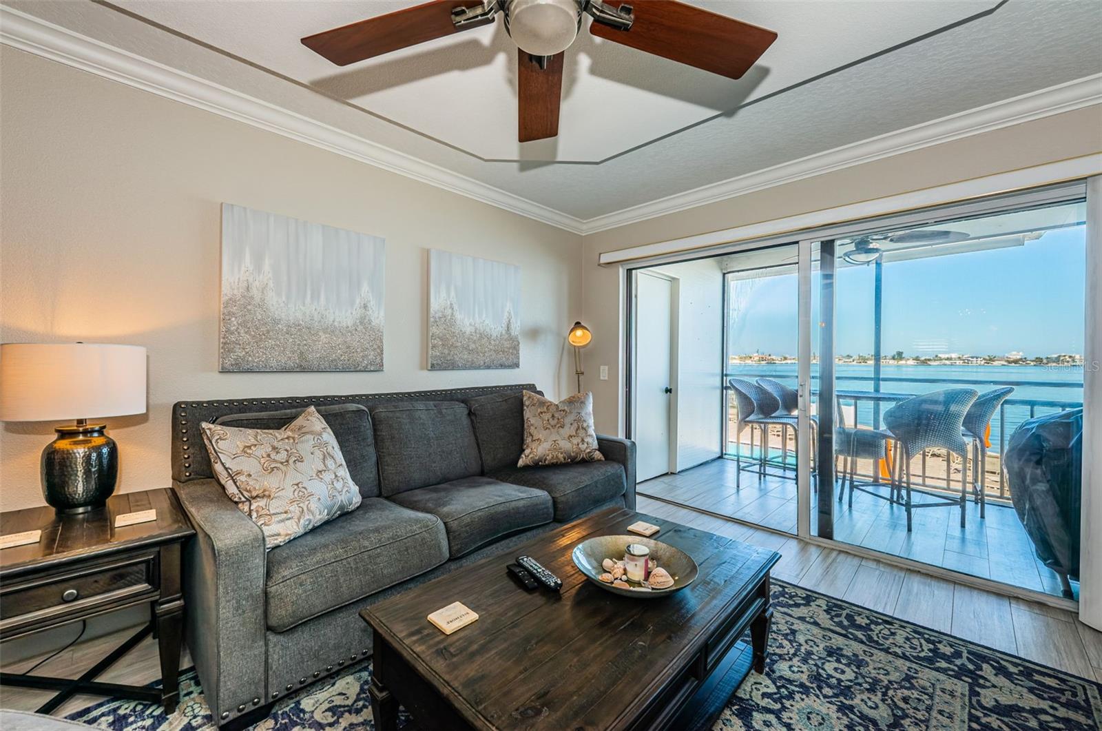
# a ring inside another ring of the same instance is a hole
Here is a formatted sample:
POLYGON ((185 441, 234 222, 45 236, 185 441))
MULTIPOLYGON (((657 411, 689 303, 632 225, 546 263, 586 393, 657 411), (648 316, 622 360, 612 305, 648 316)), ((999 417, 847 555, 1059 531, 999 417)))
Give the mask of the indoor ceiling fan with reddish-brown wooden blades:
POLYGON ((674 0, 432 0, 302 39, 338 66, 505 18, 517 44, 521 142, 559 133, 563 52, 593 18, 597 37, 741 78, 777 39, 774 31, 674 0))

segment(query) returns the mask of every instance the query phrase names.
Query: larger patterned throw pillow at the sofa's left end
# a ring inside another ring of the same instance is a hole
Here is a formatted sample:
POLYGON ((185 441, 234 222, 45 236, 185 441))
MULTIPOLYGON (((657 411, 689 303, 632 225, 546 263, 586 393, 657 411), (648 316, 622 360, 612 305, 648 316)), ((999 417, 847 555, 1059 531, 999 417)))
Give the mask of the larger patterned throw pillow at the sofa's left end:
POLYGON ((312 406, 283 429, 199 427, 215 476, 260 526, 267 550, 359 506, 337 440, 312 406))

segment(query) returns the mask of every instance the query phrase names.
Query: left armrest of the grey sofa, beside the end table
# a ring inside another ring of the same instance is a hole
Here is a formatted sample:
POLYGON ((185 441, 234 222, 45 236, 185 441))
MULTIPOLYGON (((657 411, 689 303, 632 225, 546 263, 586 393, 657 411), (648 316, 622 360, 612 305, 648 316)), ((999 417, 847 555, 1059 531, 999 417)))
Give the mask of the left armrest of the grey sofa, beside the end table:
POLYGON ((215 480, 173 488, 195 528, 184 556, 187 647, 222 724, 269 700, 264 537, 215 480))

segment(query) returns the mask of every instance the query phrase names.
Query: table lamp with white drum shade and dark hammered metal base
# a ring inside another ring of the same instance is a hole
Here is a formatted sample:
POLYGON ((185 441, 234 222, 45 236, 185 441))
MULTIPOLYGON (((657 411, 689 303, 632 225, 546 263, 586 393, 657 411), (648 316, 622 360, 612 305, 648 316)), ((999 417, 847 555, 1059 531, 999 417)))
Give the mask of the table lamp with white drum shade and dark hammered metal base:
POLYGON ((91 343, 0 345, 0 421, 62 421, 42 450, 42 495, 57 513, 102 507, 119 474, 107 424, 145 412, 145 348, 91 343))

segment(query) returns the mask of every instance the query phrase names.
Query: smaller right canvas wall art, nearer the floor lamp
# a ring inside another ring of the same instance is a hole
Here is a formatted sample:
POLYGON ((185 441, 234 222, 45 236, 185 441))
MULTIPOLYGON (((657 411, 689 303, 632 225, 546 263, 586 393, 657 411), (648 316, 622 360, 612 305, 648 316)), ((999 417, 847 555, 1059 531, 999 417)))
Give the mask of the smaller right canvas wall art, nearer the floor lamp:
POLYGON ((429 252, 429 368, 520 367, 520 267, 429 252))

